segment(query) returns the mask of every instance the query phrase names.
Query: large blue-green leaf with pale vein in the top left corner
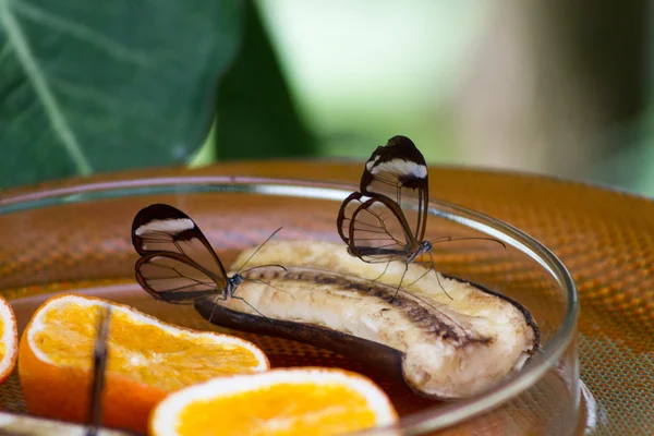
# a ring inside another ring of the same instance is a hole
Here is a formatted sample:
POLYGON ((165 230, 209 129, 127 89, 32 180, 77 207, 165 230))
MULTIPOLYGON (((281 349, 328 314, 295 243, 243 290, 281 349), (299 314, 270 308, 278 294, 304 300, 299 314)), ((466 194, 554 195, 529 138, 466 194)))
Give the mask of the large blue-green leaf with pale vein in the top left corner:
POLYGON ((185 162, 239 0, 0 0, 0 186, 185 162))

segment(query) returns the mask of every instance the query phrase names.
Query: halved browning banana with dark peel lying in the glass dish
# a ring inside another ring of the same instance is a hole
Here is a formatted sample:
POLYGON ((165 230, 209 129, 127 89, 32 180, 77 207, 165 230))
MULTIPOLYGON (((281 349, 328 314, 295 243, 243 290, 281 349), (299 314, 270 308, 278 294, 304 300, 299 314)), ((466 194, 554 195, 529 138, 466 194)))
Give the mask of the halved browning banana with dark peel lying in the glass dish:
POLYGON ((395 299, 405 265, 367 264, 342 244, 270 241, 247 268, 268 264, 287 270, 244 274, 237 295, 245 302, 207 299, 196 308, 215 324, 308 342, 399 373, 436 399, 482 392, 538 348, 538 329, 520 304, 434 270, 425 275, 419 264, 409 265, 395 299))

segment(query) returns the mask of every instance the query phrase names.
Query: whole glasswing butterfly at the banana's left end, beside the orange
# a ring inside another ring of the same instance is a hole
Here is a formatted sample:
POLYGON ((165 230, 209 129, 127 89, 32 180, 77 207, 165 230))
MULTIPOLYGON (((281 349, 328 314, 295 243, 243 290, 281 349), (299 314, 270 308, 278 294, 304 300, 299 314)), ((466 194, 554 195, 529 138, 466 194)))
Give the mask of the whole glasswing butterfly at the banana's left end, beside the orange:
MULTIPOLYGON (((272 232, 250 258, 280 230, 281 227, 272 232)), ((243 276, 252 269, 274 266, 286 270, 281 265, 242 270, 250 262, 247 259, 234 275, 228 277, 197 225, 183 211, 166 204, 154 204, 136 214, 132 223, 132 244, 142 256, 134 267, 136 280, 156 300, 167 303, 193 304, 196 299, 214 298, 216 308, 218 301, 233 298, 265 317, 234 292, 243 280, 263 282, 243 276)))

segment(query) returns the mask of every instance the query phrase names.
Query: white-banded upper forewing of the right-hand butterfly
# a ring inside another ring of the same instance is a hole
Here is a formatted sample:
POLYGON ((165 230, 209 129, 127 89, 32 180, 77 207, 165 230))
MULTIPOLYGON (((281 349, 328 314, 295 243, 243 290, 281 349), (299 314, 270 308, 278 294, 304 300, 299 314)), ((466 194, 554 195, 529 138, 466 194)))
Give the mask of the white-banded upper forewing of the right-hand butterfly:
POLYGON ((411 140, 393 136, 386 146, 377 147, 365 164, 360 191, 395 201, 412 223, 413 238, 424 239, 429 198, 427 165, 411 140))

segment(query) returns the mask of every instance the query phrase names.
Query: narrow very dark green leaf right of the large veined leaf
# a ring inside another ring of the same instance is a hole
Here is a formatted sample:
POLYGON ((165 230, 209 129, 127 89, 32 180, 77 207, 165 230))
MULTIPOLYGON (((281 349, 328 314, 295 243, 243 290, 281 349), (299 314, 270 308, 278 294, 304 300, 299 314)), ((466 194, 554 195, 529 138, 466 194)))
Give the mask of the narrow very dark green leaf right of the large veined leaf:
POLYGON ((242 47, 218 88, 216 156, 312 156, 316 141, 298 114, 256 7, 245 4, 242 47))

